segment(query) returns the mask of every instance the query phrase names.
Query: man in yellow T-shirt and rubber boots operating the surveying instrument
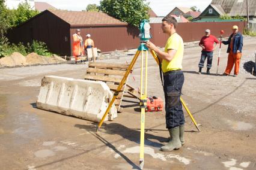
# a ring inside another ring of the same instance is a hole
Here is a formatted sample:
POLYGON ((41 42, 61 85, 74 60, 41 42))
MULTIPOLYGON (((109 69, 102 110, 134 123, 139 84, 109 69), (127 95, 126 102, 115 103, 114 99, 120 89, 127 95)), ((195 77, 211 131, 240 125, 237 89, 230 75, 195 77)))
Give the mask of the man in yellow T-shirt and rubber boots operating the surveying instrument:
POLYGON ((162 19, 163 33, 169 36, 165 51, 160 51, 152 42, 146 43, 148 48, 157 53, 160 62, 162 62, 165 120, 166 128, 171 136, 168 144, 160 148, 162 151, 172 151, 184 144, 184 114, 180 101, 181 89, 184 83, 184 75, 181 71, 184 44, 180 35, 176 33, 177 25, 177 20, 172 16, 162 19))

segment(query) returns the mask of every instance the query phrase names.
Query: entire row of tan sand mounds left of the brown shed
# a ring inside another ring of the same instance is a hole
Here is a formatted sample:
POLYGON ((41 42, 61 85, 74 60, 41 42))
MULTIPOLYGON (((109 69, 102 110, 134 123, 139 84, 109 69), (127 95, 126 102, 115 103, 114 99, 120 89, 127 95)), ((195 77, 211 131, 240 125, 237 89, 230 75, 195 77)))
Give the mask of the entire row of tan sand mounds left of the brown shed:
POLYGON ((20 53, 13 53, 10 56, 2 57, 0 59, 1 66, 14 67, 14 66, 25 66, 25 65, 44 65, 50 63, 62 63, 65 62, 59 56, 53 55, 50 57, 40 56, 37 53, 30 53, 26 57, 20 53))

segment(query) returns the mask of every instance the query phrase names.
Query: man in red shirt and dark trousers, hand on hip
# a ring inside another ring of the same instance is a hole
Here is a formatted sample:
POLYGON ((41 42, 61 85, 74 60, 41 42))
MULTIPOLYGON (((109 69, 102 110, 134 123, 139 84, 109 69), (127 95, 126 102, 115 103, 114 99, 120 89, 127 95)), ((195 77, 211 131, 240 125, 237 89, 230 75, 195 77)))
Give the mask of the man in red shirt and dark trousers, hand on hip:
POLYGON ((198 74, 201 74, 202 68, 204 67, 204 61, 207 57, 207 74, 210 74, 210 68, 212 68, 212 62, 213 62, 213 51, 215 50, 216 45, 219 43, 217 38, 213 35, 210 35, 211 31, 210 29, 206 29, 206 35, 201 38, 201 41, 199 42, 199 46, 202 47, 202 54, 201 59, 198 64, 199 71, 198 74), (215 44, 215 47, 213 45, 215 44))

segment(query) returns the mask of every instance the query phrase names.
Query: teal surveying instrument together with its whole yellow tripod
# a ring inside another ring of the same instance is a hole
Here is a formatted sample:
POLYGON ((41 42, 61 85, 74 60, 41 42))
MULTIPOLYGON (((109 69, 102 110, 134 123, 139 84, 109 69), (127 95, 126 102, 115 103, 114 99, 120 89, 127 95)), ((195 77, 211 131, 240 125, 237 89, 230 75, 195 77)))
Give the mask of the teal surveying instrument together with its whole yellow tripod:
MULTIPOLYGON (((148 48, 146 47, 145 43, 150 40, 150 24, 148 23, 148 20, 142 20, 141 24, 139 25, 140 29, 140 45, 138 47, 138 50, 135 53, 135 56, 132 59, 132 62, 130 63, 129 67, 126 70, 126 73, 124 74, 124 77, 121 80, 121 83, 117 87, 117 90, 114 93, 114 96, 111 100, 111 102, 108 105, 108 108, 106 109, 105 114, 102 117, 102 120, 100 120, 99 125, 97 126, 96 132, 100 129, 102 126, 103 121, 106 118, 106 115, 109 113, 109 110, 111 109, 111 106, 114 104, 115 99, 117 98, 118 94, 121 92, 121 89, 124 85, 124 83, 127 80, 127 77, 129 76, 130 72, 132 72, 133 67, 136 63, 136 60, 139 57, 139 54, 141 54, 141 89, 140 89, 140 108, 141 108, 141 139, 140 139, 140 151, 139 151, 139 166, 141 169, 144 167, 144 133, 145 133, 145 108, 147 107, 147 67, 148 67, 148 48), (144 53, 145 53, 145 68, 144 68, 144 53), (145 69, 145 73, 144 73, 145 69)), ((158 57, 156 56, 156 53, 153 50, 150 50, 150 53, 154 57, 154 60, 156 60, 157 64, 160 65, 160 61, 158 57)), ((180 97, 180 101, 183 105, 183 107, 186 109, 187 113, 189 114, 190 118, 192 119, 192 122, 198 129, 198 132, 200 132, 200 129, 198 128, 197 122, 195 122, 194 117, 186 107, 186 104, 184 103, 183 99, 180 97)))

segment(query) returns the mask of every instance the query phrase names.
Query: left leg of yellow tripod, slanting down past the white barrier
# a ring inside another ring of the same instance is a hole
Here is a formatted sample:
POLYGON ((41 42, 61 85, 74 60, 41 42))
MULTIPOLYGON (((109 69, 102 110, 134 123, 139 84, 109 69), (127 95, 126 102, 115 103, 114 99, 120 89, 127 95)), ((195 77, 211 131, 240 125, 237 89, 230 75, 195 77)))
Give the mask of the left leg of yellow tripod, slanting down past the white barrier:
POLYGON ((130 74, 130 72, 132 71, 132 68, 135 65, 135 62, 138 59, 138 56, 139 56, 140 53, 141 53, 141 51, 137 51, 135 56, 133 57, 132 62, 130 63, 128 69, 126 70, 126 73, 124 74, 124 77, 122 78, 119 86, 117 87, 117 90, 115 91, 115 94, 114 94, 111 102, 109 103, 108 108, 105 111, 105 114, 102 117, 102 120, 100 120, 100 123, 99 123, 99 125, 98 125, 98 127, 96 129, 96 132, 100 129, 100 126, 102 126, 102 123, 104 122, 104 120, 106 118, 106 115, 109 113, 109 110, 111 109, 111 106, 114 104, 114 101, 115 101, 115 99, 118 96, 118 93, 120 92, 121 88, 123 87, 124 83, 126 82, 127 77, 130 74))

